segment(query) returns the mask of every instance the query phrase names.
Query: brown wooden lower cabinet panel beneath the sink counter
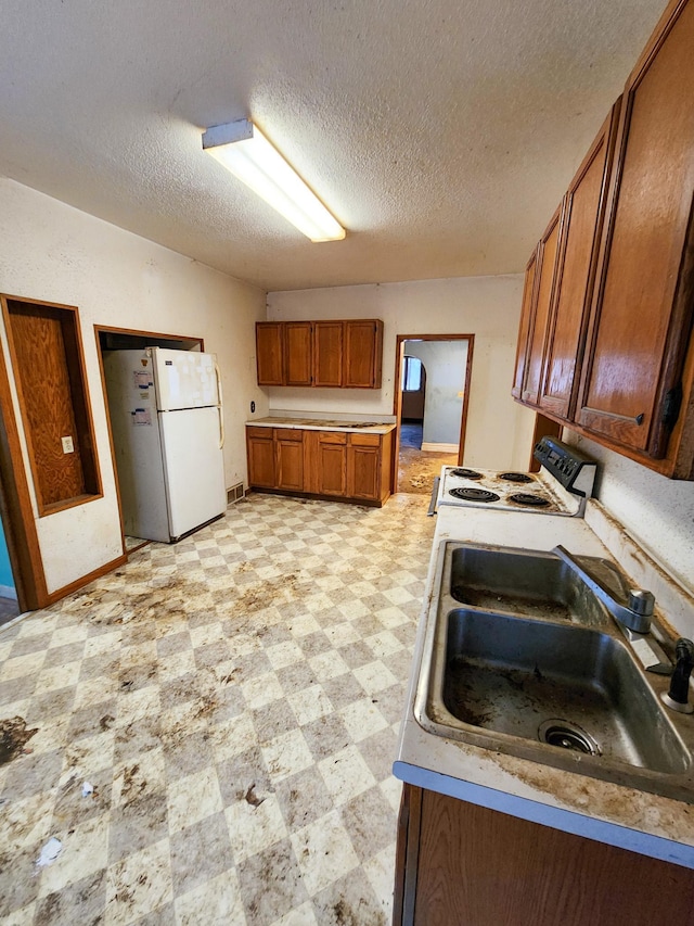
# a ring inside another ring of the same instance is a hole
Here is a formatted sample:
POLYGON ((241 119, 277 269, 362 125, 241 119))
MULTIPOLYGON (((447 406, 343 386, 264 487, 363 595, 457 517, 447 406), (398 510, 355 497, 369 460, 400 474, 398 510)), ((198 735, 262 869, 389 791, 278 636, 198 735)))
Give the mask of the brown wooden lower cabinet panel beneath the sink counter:
POLYGON ((394 926, 692 926, 694 871, 404 785, 394 926))

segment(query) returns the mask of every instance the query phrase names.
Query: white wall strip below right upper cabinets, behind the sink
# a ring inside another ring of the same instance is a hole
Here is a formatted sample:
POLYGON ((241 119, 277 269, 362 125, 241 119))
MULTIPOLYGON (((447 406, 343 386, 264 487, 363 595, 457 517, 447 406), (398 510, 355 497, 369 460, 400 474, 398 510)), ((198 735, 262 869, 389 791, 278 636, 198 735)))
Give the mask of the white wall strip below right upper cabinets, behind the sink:
POLYGON ((595 497, 694 595, 694 483, 666 479, 573 431, 564 440, 601 462, 595 497))

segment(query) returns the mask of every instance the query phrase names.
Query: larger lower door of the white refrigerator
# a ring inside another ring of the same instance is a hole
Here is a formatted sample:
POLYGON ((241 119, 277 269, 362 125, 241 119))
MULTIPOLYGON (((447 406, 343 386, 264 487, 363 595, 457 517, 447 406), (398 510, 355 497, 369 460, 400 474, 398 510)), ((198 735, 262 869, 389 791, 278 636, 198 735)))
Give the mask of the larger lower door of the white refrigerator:
POLYGON ((169 503, 169 532, 176 540, 227 508, 217 409, 162 411, 159 432, 169 503))

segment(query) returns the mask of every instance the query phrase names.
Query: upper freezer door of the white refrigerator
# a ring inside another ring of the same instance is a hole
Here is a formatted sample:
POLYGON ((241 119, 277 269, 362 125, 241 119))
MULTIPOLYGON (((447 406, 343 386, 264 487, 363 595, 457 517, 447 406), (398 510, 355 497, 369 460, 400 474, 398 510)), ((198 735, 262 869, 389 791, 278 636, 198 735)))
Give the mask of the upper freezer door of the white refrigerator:
POLYGON ((152 347, 157 408, 203 408, 219 404, 214 354, 152 347))

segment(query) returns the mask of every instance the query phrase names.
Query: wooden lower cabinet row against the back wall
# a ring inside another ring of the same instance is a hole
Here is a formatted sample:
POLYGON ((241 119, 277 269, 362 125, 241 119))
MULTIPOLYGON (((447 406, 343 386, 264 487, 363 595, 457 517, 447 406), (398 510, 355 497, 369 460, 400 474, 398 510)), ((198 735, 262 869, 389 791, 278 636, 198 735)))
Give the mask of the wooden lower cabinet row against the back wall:
POLYGON ((390 495, 393 432, 247 426, 246 445, 252 489, 375 506, 390 495))

